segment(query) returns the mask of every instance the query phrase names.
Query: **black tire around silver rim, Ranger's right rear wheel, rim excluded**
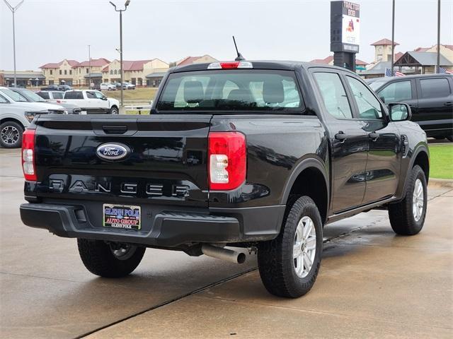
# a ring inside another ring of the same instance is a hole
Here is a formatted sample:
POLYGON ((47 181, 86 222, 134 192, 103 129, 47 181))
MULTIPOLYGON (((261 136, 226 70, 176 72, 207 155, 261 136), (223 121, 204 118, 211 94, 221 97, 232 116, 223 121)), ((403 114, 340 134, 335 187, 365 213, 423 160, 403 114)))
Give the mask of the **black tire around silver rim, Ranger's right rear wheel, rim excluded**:
POLYGON ((278 237, 258 244, 258 268, 266 290, 277 297, 297 298, 305 295, 316 281, 322 250, 323 224, 316 204, 308 196, 289 199, 278 237), (313 221, 316 249, 313 265, 302 278, 296 273, 293 246, 297 225, 303 217, 309 217, 313 221))

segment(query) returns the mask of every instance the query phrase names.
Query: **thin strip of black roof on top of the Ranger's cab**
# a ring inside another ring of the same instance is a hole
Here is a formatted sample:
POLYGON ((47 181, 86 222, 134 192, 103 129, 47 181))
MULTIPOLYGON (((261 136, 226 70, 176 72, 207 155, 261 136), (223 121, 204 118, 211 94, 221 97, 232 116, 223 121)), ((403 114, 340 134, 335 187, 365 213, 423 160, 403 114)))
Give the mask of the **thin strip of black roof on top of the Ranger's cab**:
MULTIPOLYGON (((253 64, 253 69, 279 69, 279 70, 287 70, 287 71, 294 71, 297 68, 302 69, 309 69, 310 67, 323 67, 328 69, 338 69, 341 71, 349 71, 348 69, 343 69, 337 66, 331 66, 326 64, 314 64, 311 62, 306 61, 285 61, 285 60, 243 60, 248 61, 253 64)), ((218 62, 234 62, 234 61, 218 61, 218 62)), ((170 69, 169 73, 177 73, 177 72, 187 72, 187 71, 204 71, 207 70, 207 66, 210 63, 203 63, 203 64, 190 64, 186 66, 176 66, 173 69, 170 69)), ((350 73, 355 74, 354 72, 350 71, 350 73)))

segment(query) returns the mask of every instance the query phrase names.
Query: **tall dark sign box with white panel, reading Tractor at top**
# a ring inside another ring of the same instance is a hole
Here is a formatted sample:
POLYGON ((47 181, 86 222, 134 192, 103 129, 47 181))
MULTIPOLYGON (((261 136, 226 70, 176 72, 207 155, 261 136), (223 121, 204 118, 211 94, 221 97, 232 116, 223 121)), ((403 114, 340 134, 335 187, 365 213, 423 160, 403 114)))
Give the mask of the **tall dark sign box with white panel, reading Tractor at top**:
POLYGON ((360 44, 360 5, 331 1, 331 51, 358 53, 360 44))

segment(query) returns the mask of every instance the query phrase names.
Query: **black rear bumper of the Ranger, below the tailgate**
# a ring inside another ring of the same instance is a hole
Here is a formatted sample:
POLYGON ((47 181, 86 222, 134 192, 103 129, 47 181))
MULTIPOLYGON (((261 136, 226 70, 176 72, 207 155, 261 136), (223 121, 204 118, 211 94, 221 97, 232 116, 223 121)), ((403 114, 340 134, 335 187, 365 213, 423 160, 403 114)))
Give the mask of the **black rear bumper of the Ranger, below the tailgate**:
POLYGON ((21 205, 21 219, 25 225, 49 230, 59 237, 164 247, 198 242, 231 244, 274 239, 280 232, 284 213, 285 206, 211 208, 207 213, 160 210, 149 220, 148 227, 123 230, 93 225, 84 206, 80 205, 21 205))

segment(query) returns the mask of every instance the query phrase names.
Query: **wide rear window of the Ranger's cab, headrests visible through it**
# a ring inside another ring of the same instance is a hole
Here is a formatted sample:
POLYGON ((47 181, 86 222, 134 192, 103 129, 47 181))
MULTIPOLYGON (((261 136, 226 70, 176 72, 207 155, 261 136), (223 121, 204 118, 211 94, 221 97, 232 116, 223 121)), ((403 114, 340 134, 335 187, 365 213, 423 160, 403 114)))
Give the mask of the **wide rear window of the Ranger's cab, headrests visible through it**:
POLYGON ((218 70, 171 73, 158 112, 270 111, 304 109, 294 71, 218 70))

